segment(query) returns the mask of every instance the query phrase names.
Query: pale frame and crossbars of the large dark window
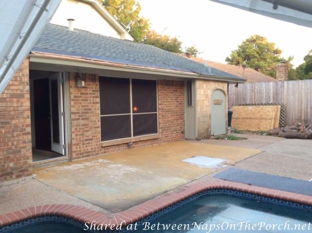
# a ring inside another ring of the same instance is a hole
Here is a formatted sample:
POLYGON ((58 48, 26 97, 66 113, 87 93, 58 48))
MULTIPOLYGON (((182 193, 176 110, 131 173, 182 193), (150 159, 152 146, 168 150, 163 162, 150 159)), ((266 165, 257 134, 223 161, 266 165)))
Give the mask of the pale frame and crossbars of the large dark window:
MULTIPOLYGON (((116 76, 103 76, 103 75, 99 75, 98 78, 125 78, 125 77, 116 77, 116 76)), ((126 113, 126 114, 111 114, 111 115, 101 115, 100 112, 100 96, 99 96, 99 123, 100 123, 100 142, 111 142, 111 141, 120 141, 120 140, 125 140, 125 139, 131 139, 131 138, 138 138, 138 137, 144 137, 144 136, 155 136, 155 135, 159 135, 159 114, 158 114, 158 81, 157 79, 154 78, 127 78, 130 80, 130 114, 126 113), (132 101, 132 79, 142 79, 142 80, 154 80, 156 81, 156 111, 157 112, 150 112, 150 113, 133 113, 133 101, 132 101), (146 135, 139 135, 139 136, 134 136, 134 132, 133 132, 133 116, 134 115, 143 115, 143 114, 157 114, 157 133, 152 133, 152 134, 146 134, 146 135), (102 141, 102 137, 101 137, 101 117, 109 117, 109 116, 122 116, 122 115, 130 115, 130 128, 131 128, 131 136, 130 137, 121 137, 121 138, 116 138, 116 139, 110 139, 110 140, 104 140, 102 141)), ((99 86, 98 86, 99 88, 99 86)), ((100 90, 98 89, 98 94, 100 93, 100 90)))

